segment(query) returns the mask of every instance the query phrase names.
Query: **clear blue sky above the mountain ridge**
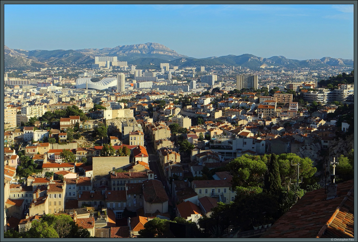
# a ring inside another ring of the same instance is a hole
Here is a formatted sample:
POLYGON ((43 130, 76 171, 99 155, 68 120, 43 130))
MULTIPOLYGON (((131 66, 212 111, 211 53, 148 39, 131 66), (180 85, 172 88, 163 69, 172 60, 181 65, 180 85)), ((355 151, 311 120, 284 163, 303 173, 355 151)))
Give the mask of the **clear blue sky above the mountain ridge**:
POLYGON ((353 59, 353 5, 4 5, 5 45, 77 50, 156 42, 195 58, 353 59))

